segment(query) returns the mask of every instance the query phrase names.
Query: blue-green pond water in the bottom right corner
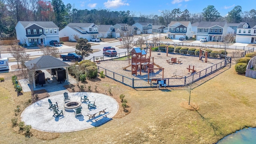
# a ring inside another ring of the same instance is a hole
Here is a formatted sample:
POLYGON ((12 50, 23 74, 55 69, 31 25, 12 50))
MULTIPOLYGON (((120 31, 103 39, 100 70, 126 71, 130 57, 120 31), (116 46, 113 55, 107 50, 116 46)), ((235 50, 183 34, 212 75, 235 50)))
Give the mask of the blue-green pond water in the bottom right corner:
POLYGON ((216 144, 255 144, 256 128, 244 128, 225 136, 216 144))

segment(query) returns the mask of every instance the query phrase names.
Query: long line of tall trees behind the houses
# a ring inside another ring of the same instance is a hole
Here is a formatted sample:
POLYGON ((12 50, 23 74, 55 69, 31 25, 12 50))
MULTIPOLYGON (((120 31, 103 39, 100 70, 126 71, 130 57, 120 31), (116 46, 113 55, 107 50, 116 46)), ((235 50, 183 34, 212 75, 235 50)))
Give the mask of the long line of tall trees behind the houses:
POLYGON ((132 25, 135 22, 149 22, 153 25, 170 24, 171 21, 227 21, 228 23, 254 22, 256 10, 242 11, 235 6, 227 16, 222 17, 214 6, 209 5, 201 13, 192 14, 180 8, 163 10, 161 15, 136 14, 127 11, 111 11, 105 9, 78 10, 72 4, 64 4, 62 0, 0 0, 0 37, 15 37, 15 26, 18 21, 53 21, 60 30, 70 22, 132 25))

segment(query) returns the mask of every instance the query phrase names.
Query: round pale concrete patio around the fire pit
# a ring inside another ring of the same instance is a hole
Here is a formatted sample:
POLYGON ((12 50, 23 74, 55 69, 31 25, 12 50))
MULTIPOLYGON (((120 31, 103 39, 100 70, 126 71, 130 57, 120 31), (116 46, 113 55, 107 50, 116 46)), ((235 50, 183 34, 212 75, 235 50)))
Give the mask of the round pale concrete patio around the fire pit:
MULTIPOLYGON (((102 124, 112 120, 112 118, 118 112, 118 102, 105 94, 98 94, 94 92, 72 92, 68 93, 70 96, 70 101, 80 102, 81 96, 87 95, 90 101, 95 100, 96 109, 102 107, 107 107, 106 112, 110 112, 107 117, 103 117, 97 121, 94 118, 89 120, 86 116, 87 112, 94 110, 94 108, 88 109, 88 102, 82 102, 82 115, 75 117, 74 111, 65 111, 64 109, 64 95, 58 94, 55 96, 50 96, 44 98, 37 102, 34 102, 28 106, 21 114, 21 120, 25 122, 26 125, 31 125, 32 128, 44 132, 74 132, 78 130, 84 130, 87 128, 101 126, 102 124), (63 110, 63 115, 58 117, 53 117, 54 111, 48 109, 49 102, 48 99, 58 103, 59 110, 63 110)), ((102 115, 101 113, 100 115, 102 115)), ((97 118, 98 114, 96 114, 97 118)))

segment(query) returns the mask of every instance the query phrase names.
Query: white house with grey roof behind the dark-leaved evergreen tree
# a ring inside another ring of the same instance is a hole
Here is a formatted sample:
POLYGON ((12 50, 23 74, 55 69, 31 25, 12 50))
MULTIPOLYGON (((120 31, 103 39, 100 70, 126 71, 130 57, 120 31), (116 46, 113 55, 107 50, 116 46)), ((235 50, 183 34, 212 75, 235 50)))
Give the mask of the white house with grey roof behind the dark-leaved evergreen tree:
POLYGON ((69 23, 59 32, 60 37, 67 37, 70 41, 76 41, 74 35, 79 38, 86 38, 90 41, 92 38, 100 38, 98 26, 94 23, 69 23))

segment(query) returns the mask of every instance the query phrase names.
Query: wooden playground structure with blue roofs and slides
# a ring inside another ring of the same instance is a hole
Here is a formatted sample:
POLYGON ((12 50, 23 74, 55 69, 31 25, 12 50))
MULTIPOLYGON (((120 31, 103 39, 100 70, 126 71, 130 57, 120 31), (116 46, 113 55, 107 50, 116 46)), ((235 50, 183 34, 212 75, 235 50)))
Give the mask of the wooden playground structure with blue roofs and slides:
MULTIPOLYGON (((146 51, 145 50, 140 50, 140 48, 133 48, 131 50, 131 55, 132 55, 132 62, 130 64, 130 58, 129 58, 129 65, 124 67, 123 69, 126 70, 126 68, 132 66, 132 74, 136 74, 137 76, 137 71, 138 69, 140 70, 140 75, 141 75, 141 70, 144 69, 146 71, 146 67, 148 67, 148 73, 149 72, 154 72, 154 66, 157 66, 157 69, 162 69, 159 65, 154 63, 154 57, 148 57, 146 58, 146 51), (151 61, 152 58, 152 61, 151 61)), ((151 51, 150 51, 151 54, 151 51)))

